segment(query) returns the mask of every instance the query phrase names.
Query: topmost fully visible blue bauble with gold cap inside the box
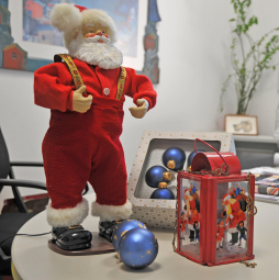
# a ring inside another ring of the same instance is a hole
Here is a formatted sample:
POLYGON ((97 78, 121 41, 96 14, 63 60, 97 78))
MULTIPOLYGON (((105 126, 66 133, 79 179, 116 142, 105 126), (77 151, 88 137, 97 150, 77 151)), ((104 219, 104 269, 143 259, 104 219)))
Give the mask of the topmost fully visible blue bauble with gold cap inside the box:
POLYGON ((181 148, 168 148, 163 154, 163 164, 171 170, 178 171, 183 169, 186 154, 181 148))

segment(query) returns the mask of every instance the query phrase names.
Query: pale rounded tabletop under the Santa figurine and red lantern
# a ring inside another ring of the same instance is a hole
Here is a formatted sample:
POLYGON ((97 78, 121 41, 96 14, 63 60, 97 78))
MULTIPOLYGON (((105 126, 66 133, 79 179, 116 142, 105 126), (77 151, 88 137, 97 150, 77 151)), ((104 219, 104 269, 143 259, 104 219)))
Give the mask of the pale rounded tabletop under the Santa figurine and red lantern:
MULTIPOLYGON (((90 201, 94 194, 87 195, 90 201)), ((90 204, 90 203, 89 203, 90 204)), ((172 251, 170 231, 152 229, 159 243, 155 261, 142 270, 133 270, 125 265, 116 265, 116 253, 68 257, 55 254, 47 247, 51 235, 41 237, 16 236, 12 246, 14 279, 24 280, 92 280, 92 279, 171 279, 171 280, 223 280, 253 279, 272 280, 279 278, 279 206, 256 202, 255 216, 255 262, 256 268, 241 264, 217 267, 201 266, 172 251)), ((98 219, 88 216, 85 228, 98 231, 98 219)), ((150 229, 150 228, 149 228, 150 229)), ((49 232, 45 212, 30 220, 19 233, 36 234, 49 232)))

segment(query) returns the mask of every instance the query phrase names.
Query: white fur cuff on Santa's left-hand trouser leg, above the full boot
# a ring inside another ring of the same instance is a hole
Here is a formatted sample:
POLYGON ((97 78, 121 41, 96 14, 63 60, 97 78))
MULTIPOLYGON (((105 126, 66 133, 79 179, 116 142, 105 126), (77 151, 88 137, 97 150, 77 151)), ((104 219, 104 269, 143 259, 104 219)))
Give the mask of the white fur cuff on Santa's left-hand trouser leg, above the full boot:
POLYGON ((88 201, 85 198, 75 208, 54 209, 52 205, 46 208, 47 222, 54 227, 80 224, 88 215, 88 201))

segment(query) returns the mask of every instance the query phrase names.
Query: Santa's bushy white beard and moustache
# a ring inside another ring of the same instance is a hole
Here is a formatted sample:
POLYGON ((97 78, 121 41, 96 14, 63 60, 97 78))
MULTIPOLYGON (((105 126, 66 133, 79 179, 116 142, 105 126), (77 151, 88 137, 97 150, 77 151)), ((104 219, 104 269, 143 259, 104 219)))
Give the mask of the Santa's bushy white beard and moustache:
POLYGON ((69 55, 90 65, 98 65, 103 69, 115 69, 122 65, 123 55, 110 40, 103 36, 83 40, 79 34, 69 44, 69 55), (98 43, 102 40, 103 43, 98 43))

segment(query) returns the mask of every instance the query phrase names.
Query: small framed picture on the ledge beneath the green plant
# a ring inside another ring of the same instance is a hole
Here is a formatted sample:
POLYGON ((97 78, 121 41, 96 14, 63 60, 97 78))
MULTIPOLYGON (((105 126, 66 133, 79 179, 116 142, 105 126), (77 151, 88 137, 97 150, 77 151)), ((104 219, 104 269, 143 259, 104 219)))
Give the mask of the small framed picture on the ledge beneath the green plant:
POLYGON ((258 117, 256 115, 225 115, 225 132, 235 135, 258 135, 258 117))

